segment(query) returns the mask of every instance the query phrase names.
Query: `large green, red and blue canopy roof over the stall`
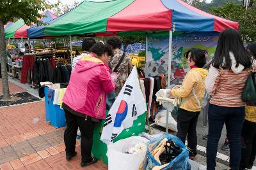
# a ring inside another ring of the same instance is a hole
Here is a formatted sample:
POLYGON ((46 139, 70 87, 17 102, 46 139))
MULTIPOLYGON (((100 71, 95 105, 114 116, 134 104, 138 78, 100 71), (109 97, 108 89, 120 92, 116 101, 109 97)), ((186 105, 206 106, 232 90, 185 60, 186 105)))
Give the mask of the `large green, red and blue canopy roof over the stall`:
POLYGON ((200 11, 181 0, 90 0, 65 15, 33 27, 31 38, 78 34, 115 35, 142 32, 223 31, 238 23, 200 11))

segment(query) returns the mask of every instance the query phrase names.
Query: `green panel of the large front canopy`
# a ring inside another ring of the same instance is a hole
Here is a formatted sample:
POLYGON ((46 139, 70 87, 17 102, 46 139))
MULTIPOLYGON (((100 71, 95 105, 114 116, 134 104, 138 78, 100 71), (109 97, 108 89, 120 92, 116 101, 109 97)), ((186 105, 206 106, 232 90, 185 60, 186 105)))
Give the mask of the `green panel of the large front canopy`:
POLYGON ((134 0, 115 0, 104 3, 83 1, 65 17, 45 27, 44 36, 68 36, 106 32, 108 18, 122 11, 134 0))

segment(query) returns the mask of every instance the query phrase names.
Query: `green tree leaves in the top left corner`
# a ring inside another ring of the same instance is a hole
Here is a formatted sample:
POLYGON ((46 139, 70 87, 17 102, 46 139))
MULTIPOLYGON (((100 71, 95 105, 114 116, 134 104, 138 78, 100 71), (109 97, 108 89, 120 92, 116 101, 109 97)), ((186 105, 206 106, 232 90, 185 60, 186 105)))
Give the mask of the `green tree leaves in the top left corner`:
POLYGON ((1 0, 0 3, 0 20, 3 24, 9 21, 22 18, 27 25, 43 24, 38 21, 42 15, 39 11, 45 11, 55 7, 47 0, 1 0))

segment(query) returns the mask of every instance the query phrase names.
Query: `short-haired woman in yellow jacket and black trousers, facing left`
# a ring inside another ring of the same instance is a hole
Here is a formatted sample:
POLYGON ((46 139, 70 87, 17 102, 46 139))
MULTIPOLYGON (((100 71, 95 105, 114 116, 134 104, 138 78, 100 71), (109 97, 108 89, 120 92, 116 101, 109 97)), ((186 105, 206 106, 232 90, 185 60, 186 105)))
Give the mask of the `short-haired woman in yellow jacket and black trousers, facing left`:
POLYGON ((204 50, 192 48, 187 52, 186 58, 191 70, 186 74, 182 86, 171 90, 171 95, 181 99, 177 137, 185 143, 188 135, 188 147, 191 149, 189 158, 193 160, 197 154, 196 124, 202 108, 207 70, 202 68, 206 63, 204 50))

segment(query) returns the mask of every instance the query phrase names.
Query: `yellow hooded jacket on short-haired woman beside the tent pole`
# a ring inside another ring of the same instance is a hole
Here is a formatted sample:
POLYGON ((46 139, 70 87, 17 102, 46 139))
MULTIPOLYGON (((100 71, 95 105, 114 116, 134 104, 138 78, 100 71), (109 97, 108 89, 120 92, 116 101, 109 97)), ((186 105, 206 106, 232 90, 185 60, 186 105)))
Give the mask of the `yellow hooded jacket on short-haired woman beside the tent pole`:
POLYGON ((185 76, 182 83, 182 87, 179 89, 172 89, 171 94, 173 97, 181 98, 182 100, 189 99, 183 103, 179 108, 187 111, 200 111, 202 108, 202 97, 205 93, 205 77, 207 76, 207 70, 202 68, 191 69, 185 76), (197 85, 196 85, 197 83, 197 85), (200 106, 196 103, 196 99, 192 94, 192 90, 195 88, 196 96, 200 101, 200 106))

